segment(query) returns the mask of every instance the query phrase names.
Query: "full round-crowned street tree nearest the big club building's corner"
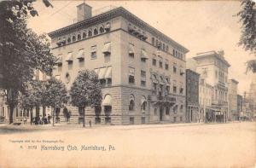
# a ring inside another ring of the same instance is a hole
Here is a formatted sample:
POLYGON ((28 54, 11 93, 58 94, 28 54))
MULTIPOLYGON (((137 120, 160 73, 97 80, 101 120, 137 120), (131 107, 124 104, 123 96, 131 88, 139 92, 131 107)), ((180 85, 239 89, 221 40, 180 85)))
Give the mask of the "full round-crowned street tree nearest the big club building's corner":
POLYGON ((96 107, 102 103, 102 90, 94 71, 79 72, 70 90, 71 104, 82 109, 85 127, 85 107, 96 107))

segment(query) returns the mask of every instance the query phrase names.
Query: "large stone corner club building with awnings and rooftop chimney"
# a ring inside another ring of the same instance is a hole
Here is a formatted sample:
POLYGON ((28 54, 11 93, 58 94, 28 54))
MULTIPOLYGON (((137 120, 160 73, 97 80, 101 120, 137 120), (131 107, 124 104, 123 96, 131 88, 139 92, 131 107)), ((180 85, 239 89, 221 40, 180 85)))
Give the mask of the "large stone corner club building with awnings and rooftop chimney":
MULTIPOLYGON (((85 3, 79 22, 49 32, 58 56, 55 78, 73 84, 78 72, 94 70, 102 106, 86 109, 86 123, 134 125, 184 122, 188 49, 120 7, 95 16, 85 3)), ((79 109, 56 111, 60 122, 79 123, 79 109), (65 119, 64 112, 70 113, 65 119)))

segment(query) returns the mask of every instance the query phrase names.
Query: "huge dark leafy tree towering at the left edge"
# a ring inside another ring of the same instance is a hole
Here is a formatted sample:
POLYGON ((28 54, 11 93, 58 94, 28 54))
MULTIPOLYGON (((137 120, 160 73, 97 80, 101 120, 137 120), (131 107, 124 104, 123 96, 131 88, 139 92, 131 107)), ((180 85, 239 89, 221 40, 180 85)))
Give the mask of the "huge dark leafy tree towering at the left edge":
MULTIPOLYGON (((56 61, 50 53, 46 35, 38 36, 27 28, 28 13, 32 16, 38 14, 32 2, 0 2, 0 88, 7 90, 10 123, 13 122, 19 92, 26 91, 26 83, 32 80, 33 72, 38 69, 49 75, 56 61)), ((47 0, 43 2, 49 5, 47 0)))

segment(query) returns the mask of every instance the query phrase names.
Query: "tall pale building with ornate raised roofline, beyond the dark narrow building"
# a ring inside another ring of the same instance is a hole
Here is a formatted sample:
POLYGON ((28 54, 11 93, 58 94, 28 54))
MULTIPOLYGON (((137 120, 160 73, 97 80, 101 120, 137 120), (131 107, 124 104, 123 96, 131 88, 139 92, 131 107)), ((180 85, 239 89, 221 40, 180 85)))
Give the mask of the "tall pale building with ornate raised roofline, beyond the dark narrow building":
MULTIPOLYGON (((201 74, 202 86, 212 90, 212 102, 205 112, 209 122, 225 122, 228 118, 228 68, 230 64, 224 59, 224 51, 207 51, 194 57, 196 72, 201 74)), ((200 84, 201 86, 201 84, 200 84)), ((210 97, 210 94, 209 96, 210 97)), ((207 103, 201 104, 209 104, 207 103)))

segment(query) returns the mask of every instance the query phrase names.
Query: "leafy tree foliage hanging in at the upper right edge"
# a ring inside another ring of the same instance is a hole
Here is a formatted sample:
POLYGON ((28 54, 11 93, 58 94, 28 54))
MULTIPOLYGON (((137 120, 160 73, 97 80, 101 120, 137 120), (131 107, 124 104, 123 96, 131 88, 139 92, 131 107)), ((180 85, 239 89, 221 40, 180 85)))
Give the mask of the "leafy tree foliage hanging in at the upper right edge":
MULTIPOLYGON (((242 0, 241 11, 237 14, 241 21, 239 45, 256 56, 256 5, 253 0, 242 0)), ((256 72, 256 59, 247 61, 247 72, 256 72)))

